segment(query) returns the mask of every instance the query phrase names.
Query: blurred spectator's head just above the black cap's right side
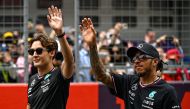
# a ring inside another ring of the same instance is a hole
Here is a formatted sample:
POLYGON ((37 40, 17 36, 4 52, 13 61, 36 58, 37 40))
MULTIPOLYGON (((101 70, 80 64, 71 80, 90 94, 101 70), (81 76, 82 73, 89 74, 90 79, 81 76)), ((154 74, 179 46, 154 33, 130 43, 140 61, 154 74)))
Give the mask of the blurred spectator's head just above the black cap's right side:
POLYGON ((144 36, 144 42, 156 46, 156 32, 152 29, 147 29, 144 36))

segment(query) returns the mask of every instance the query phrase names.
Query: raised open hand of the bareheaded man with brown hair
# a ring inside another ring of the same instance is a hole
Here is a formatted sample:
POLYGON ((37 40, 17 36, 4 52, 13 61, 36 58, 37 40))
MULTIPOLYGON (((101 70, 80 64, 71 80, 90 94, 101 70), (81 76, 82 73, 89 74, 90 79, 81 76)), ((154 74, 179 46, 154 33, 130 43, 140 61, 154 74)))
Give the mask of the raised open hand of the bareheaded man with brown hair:
POLYGON ((48 23, 53 30, 60 30, 63 27, 62 12, 57 7, 51 6, 48 8, 48 23))

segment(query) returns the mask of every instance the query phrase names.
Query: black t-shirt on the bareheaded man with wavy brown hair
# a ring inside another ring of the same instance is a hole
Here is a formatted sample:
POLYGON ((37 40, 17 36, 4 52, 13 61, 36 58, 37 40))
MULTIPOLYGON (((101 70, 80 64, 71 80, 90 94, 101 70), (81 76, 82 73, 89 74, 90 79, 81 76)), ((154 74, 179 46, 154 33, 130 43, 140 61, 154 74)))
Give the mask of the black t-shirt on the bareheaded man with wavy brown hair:
POLYGON ((70 80, 65 79, 61 69, 56 68, 43 78, 38 74, 30 78, 28 103, 31 109, 66 109, 70 80))

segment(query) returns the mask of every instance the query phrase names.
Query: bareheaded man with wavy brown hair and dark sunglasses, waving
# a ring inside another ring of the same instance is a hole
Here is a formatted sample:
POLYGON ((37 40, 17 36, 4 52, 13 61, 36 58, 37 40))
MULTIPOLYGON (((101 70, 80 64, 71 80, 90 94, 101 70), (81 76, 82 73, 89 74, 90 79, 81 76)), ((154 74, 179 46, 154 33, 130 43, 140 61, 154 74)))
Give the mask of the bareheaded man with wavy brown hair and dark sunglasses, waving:
POLYGON ((53 66, 57 42, 44 33, 38 33, 29 43, 28 53, 38 73, 28 84, 28 109, 66 109, 70 78, 73 75, 74 58, 64 37, 62 12, 57 7, 48 8, 47 19, 61 44, 64 61, 59 68, 53 66))

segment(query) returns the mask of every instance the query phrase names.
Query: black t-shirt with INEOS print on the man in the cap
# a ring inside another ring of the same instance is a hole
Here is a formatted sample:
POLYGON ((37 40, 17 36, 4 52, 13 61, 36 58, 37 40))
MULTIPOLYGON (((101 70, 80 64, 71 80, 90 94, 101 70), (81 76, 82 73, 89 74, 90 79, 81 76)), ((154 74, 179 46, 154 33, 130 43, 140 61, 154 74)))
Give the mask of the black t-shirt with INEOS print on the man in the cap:
POLYGON ((142 87, 137 75, 112 74, 111 93, 125 102, 126 109, 181 109, 174 87, 159 79, 142 87))

